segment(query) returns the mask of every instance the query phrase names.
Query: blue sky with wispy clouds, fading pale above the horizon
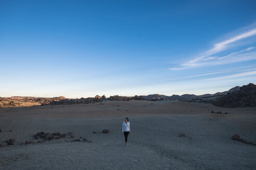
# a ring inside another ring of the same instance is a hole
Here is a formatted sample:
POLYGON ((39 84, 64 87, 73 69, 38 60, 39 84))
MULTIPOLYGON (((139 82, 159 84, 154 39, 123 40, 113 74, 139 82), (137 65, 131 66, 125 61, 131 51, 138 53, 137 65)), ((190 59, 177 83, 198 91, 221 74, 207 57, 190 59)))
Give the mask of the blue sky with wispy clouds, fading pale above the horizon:
POLYGON ((255 83, 255 8, 0 0, 0 96, 199 95, 255 83))

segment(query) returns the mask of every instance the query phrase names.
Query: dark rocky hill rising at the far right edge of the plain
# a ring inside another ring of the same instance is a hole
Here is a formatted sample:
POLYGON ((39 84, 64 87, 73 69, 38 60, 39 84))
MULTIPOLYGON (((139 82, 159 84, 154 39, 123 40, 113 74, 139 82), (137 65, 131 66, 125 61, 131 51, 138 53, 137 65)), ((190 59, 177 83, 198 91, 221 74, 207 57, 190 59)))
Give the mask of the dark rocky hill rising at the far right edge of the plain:
POLYGON ((217 98, 213 104, 220 107, 256 107, 256 85, 242 86, 239 91, 217 98))

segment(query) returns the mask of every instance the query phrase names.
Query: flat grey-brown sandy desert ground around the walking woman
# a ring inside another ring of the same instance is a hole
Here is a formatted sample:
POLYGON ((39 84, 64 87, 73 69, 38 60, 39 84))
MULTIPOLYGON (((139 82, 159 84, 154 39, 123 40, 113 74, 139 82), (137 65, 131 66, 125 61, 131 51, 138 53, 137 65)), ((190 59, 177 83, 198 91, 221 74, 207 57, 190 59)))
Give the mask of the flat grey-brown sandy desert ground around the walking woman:
POLYGON ((0 108, 1 169, 256 169, 256 108, 180 101, 0 108), (222 111, 230 114, 211 114, 222 111), (131 134, 124 146, 122 122, 131 134), (110 133, 103 134, 108 129, 110 133), (33 139, 37 132, 76 139, 33 139), (93 132, 96 133, 93 133, 93 132), (179 137, 185 134, 186 137, 179 137), (5 140, 15 138, 14 145, 5 140), (24 145, 25 141, 34 144, 24 145), (21 143, 23 143, 21 145, 21 143))

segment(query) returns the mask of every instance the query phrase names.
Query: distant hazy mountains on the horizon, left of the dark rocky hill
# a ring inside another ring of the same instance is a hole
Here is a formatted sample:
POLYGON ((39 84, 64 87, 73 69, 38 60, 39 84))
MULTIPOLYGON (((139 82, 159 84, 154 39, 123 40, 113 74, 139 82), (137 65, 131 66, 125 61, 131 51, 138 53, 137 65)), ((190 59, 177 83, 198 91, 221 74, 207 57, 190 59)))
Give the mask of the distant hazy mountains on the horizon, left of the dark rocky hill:
POLYGON ((195 94, 183 94, 183 95, 175 95, 167 96, 163 94, 149 94, 149 95, 141 95, 145 98, 145 100, 180 100, 180 101, 190 101, 196 98, 203 98, 203 97, 213 97, 218 95, 225 95, 227 93, 232 93, 234 91, 239 91, 240 86, 236 86, 232 89, 229 89, 228 91, 224 92, 217 92, 214 94, 202 94, 202 95, 195 95, 195 94))

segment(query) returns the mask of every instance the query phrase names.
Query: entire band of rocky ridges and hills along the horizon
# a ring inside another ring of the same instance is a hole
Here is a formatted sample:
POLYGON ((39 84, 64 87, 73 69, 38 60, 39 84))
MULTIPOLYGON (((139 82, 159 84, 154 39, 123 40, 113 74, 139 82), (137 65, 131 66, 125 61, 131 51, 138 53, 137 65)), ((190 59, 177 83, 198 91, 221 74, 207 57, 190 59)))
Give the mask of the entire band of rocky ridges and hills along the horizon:
POLYGON ((228 91, 217 92, 214 94, 183 94, 167 96, 163 94, 149 94, 140 96, 119 96, 106 97, 105 95, 87 98, 66 98, 59 97, 32 97, 32 96, 12 96, 0 97, 0 107, 25 107, 40 105, 71 105, 89 104, 104 101, 130 101, 130 100, 180 100, 198 103, 210 103, 220 107, 256 107, 256 85, 249 83, 245 86, 236 86, 228 91))

